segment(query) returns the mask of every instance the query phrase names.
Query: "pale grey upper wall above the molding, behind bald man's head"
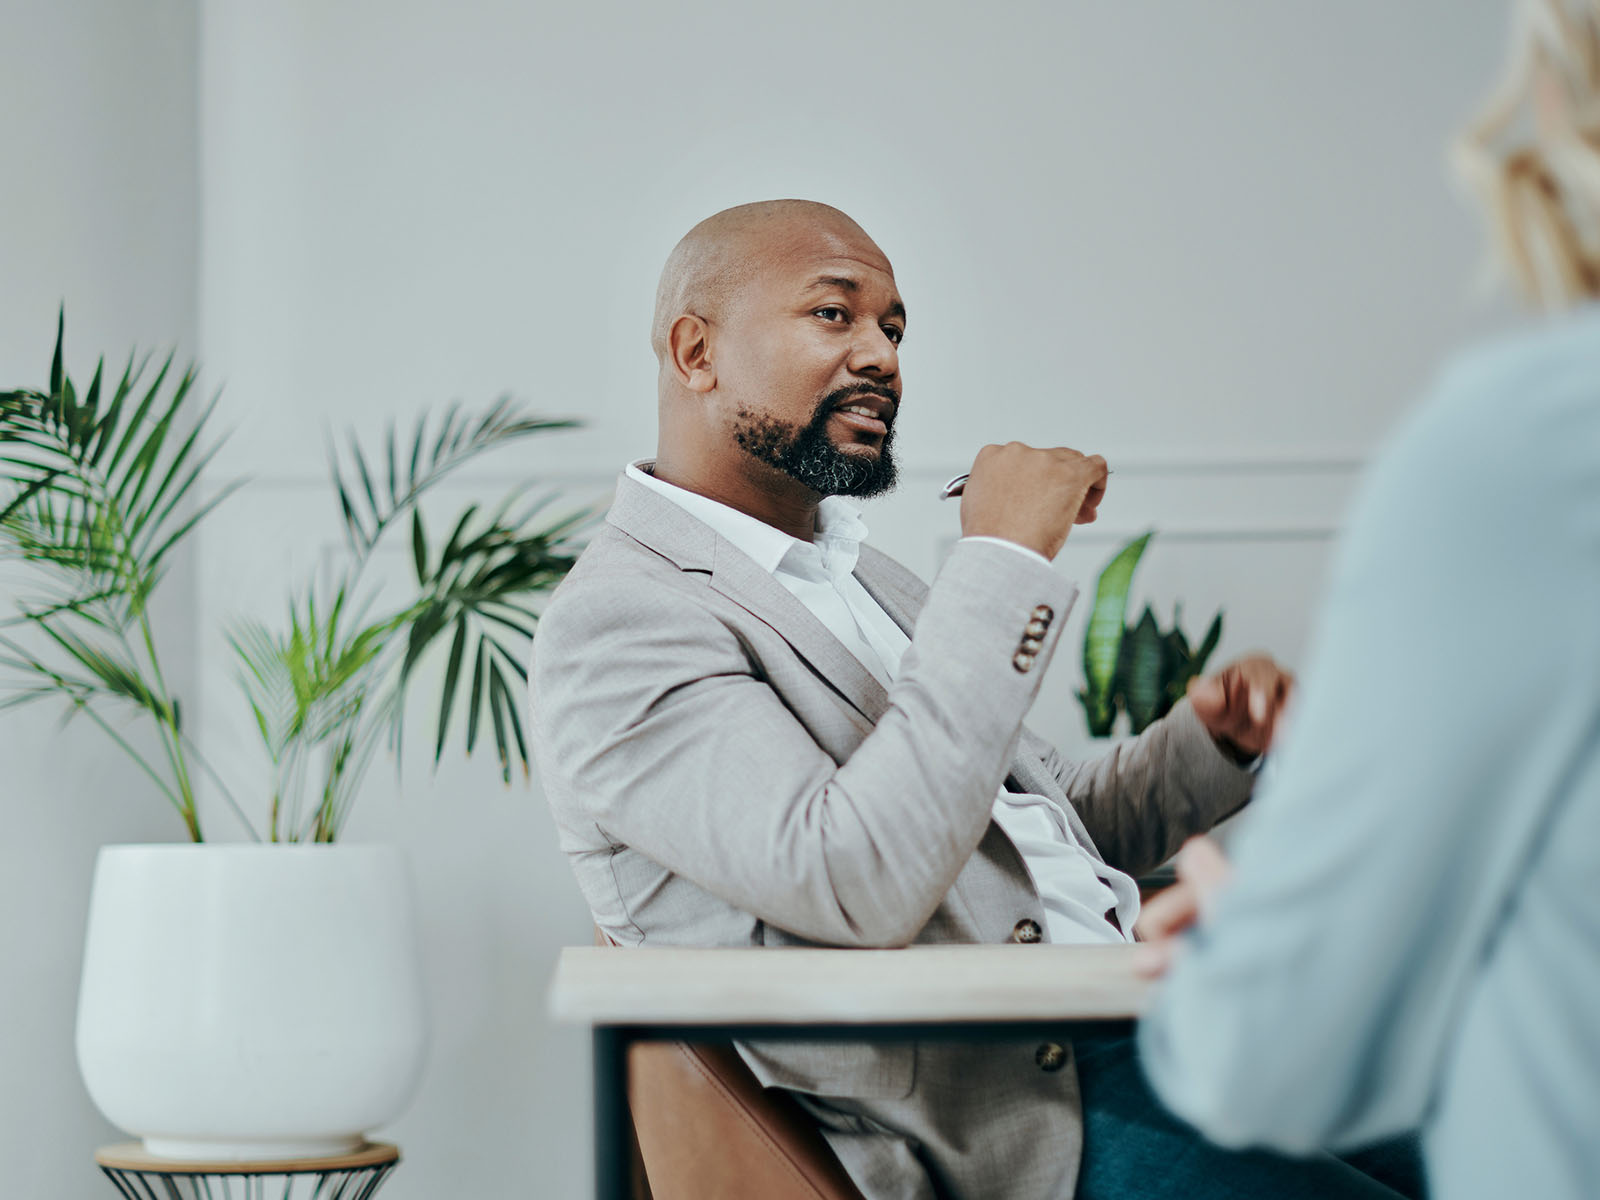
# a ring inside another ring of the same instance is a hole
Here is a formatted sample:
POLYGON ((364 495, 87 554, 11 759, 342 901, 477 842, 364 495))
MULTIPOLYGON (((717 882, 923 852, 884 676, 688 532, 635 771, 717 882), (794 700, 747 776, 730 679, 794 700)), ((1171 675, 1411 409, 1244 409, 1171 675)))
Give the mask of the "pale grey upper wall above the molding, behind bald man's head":
POLYGON ((208 354, 250 464, 514 386, 648 446, 651 277, 830 200, 910 306, 906 453, 1362 453, 1461 331, 1443 141, 1499 0, 208 6, 208 354), (982 16, 979 13, 982 11, 982 16))

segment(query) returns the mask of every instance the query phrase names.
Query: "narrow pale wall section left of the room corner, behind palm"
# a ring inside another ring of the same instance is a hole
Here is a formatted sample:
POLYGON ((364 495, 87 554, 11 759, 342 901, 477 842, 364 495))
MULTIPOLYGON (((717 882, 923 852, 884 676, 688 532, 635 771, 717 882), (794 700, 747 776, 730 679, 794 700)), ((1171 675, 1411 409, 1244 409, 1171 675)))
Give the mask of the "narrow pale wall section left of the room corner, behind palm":
MULTIPOLYGON (((0 386, 195 354, 195 0, 0 5, 0 386)), ((3 584, 0 584, 3 586, 3 584)), ((194 573, 158 594, 173 688, 194 694, 194 573)), ((10 611, 10 605, 5 605, 10 611)), ((86 722, 0 715, 0 1162, 16 1197, 98 1198, 91 1150, 122 1134, 78 1080, 72 1026, 94 851, 182 835, 166 802, 86 722)))

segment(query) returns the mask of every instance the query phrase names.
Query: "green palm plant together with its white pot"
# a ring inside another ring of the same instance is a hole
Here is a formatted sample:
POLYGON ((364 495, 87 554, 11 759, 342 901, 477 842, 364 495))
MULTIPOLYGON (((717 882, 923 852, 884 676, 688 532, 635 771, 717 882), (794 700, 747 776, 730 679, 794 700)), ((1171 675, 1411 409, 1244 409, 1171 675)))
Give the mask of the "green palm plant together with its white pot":
POLYGON ((408 437, 390 424, 381 454, 354 435, 331 451, 344 562, 301 581, 280 626, 227 630, 266 763, 230 786, 186 726, 149 613, 173 554, 240 483, 198 498, 216 398, 195 403, 195 368, 174 373, 171 355, 149 366, 130 357, 112 384, 101 363, 80 394, 58 326, 48 389, 0 392, 0 560, 14 576, 0 710, 61 702, 126 752, 189 840, 101 850, 78 1062, 107 1118, 154 1154, 338 1154, 398 1115, 426 1046, 406 861, 339 832, 379 746, 398 754, 430 651, 446 654, 434 762, 466 709, 467 750, 486 714, 502 776, 526 774, 515 640, 587 517, 552 518, 552 498, 523 490, 469 506, 430 544, 419 502, 478 456, 574 422, 501 398, 424 413, 408 437), (373 552, 406 533, 414 587, 379 605, 373 552), (206 838, 200 778, 243 842, 206 838))

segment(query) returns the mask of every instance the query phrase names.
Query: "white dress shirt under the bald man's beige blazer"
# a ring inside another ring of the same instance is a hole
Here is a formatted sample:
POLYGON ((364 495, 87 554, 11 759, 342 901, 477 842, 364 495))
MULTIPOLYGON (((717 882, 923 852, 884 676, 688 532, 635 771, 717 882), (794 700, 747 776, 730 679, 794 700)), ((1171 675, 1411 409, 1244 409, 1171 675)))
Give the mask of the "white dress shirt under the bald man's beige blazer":
MULTIPOLYGON (((854 504, 840 496, 824 498, 816 514, 816 541, 803 542, 746 512, 664 483, 642 470, 643 462, 648 459, 629 464, 629 478, 670 499, 754 558, 811 610, 885 688, 893 688, 910 638, 853 574, 867 536, 854 504)), ((1016 542, 1000 538, 984 541, 1045 562, 1043 555, 1016 542)), ((1133 923, 1139 917, 1138 885, 1078 845, 1054 802, 1002 789, 995 797, 994 819, 1034 877, 1051 942, 1131 941, 1133 923), (1122 930, 1106 918, 1112 909, 1122 930)))

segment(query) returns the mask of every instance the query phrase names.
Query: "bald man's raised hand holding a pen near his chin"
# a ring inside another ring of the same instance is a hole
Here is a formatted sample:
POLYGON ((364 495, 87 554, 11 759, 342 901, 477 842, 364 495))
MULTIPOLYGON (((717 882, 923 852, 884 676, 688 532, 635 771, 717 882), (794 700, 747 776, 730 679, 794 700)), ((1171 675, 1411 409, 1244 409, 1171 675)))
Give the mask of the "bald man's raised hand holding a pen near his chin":
POLYGON ((1106 459, 1021 442, 984 446, 962 491, 962 536, 1003 538, 1054 558, 1106 494, 1106 459))

